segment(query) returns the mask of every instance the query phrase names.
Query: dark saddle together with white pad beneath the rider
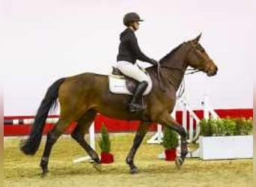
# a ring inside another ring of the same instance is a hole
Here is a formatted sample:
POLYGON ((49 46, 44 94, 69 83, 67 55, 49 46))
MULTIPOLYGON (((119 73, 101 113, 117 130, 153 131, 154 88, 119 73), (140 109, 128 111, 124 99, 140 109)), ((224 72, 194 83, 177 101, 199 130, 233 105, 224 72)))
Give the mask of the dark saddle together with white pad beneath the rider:
MULTIPOLYGON (((147 77, 149 84, 143 95, 147 95, 148 93, 150 93, 152 88, 152 81, 148 74, 147 77)), ((113 67, 112 74, 109 75, 109 90, 112 93, 125 93, 132 95, 135 92, 137 85, 138 81, 128 76, 125 76, 123 73, 121 73, 120 70, 118 70, 118 68, 113 67)))

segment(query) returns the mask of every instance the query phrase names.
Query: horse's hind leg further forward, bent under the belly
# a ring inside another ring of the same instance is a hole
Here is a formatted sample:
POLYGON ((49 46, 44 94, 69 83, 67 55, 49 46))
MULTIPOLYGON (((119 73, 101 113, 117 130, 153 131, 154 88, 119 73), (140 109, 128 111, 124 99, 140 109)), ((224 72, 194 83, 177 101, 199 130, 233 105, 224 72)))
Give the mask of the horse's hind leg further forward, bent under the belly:
POLYGON ((71 136, 84 148, 84 150, 86 150, 86 152, 89 154, 89 156, 91 156, 91 159, 93 159, 95 163, 100 164, 98 154, 85 141, 85 133, 88 133, 88 129, 90 128, 91 123, 94 121, 96 114, 96 111, 90 110, 87 111, 84 115, 82 115, 82 117, 78 120, 76 129, 74 129, 71 136))

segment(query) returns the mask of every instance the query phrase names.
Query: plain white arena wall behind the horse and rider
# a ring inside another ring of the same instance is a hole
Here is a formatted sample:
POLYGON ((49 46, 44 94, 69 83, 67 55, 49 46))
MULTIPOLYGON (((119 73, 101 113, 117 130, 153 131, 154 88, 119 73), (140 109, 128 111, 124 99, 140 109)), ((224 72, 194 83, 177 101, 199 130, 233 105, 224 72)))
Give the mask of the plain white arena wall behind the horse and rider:
MULTIPOLYGON (((115 65, 122 16, 145 20, 136 32, 142 51, 162 58, 200 32, 219 67, 208 78, 186 76, 186 99, 200 108, 252 108, 255 1, 2 1, 1 70, 4 116, 34 115, 49 85, 63 76, 107 74, 115 65)), ((145 63, 140 63, 144 67, 145 63)), ((58 113, 58 112, 57 112, 58 113)))

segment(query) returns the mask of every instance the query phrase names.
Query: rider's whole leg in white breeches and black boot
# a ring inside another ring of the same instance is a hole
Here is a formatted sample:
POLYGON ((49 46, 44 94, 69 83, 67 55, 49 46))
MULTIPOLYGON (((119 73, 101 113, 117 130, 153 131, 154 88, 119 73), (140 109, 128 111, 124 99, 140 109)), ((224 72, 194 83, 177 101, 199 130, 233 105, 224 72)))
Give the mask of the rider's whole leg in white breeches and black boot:
POLYGON ((134 65, 127 61, 118 61, 117 68, 121 70, 124 75, 129 76, 139 82, 136 91, 132 96, 131 102, 129 102, 129 111, 137 111, 143 109, 142 106, 138 104, 138 100, 147 89, 147 75, 141 69, 139 69, 136 64, 134 65))

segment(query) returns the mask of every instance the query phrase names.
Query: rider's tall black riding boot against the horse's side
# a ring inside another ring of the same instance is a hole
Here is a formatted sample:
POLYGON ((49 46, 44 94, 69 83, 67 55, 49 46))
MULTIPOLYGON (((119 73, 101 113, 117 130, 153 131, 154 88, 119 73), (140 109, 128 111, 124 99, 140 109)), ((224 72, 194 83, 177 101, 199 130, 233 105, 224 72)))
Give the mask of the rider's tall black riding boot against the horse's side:
POLYGON ((136 88, 135 93, 132 96, 131 102, 129 102, 129 111, 140 111, 143 109, 143 106, 138 103, 138 99, 141 98, 142 94, 147 88, 147 82, 140 82, 136 88))

